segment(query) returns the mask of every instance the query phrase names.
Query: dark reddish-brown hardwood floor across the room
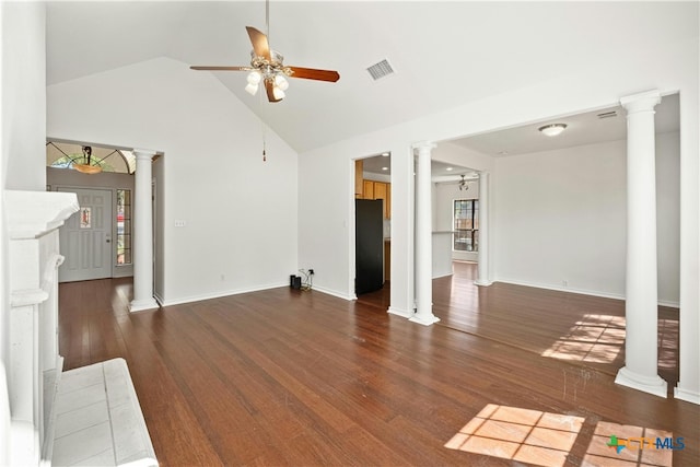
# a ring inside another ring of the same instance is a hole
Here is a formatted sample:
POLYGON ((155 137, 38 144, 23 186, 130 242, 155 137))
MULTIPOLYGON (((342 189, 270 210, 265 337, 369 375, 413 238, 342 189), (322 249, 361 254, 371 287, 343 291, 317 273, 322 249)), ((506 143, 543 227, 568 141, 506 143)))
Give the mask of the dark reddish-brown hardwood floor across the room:
MULTIPOLYGON (((387 290, 346 302, 281 288, 129 314, 128 279, 63 283, 60 353, 65 370, 127 360, 164 466, 700 465, 698 406, 612 382, 620 303, 478 289, 470 273, 456 264, 434 281, 431 327, 388 315, 387 290), (685 448, 618 454, 611 435, 685 448)), ((674 312, 662 322, 672 387, 674 312)))

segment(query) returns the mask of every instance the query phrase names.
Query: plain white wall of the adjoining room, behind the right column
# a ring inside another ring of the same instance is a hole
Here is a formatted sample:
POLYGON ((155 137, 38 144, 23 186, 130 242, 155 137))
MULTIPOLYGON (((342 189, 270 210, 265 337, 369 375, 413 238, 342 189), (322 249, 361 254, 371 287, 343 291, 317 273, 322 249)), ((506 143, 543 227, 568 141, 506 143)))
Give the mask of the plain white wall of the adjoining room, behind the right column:
MULTIPOLYGON (((679 301, 677 132, 658 135, 658 300, 679 301)), ((625 297, 626 141, 499 157, 495 280, 625 297)))

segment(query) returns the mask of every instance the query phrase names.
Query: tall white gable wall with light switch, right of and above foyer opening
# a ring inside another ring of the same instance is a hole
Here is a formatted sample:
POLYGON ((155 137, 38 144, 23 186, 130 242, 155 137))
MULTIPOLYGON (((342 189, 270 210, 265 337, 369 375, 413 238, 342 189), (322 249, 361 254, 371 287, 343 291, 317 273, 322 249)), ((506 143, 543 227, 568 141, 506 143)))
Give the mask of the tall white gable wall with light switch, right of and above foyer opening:
POLYGON ((149 60, 48 86, 47 112, 50 138, 165 154, 165 304, 289 284, 296 153, 267 130, 262 162, 260 121, 213 75, 149 60))

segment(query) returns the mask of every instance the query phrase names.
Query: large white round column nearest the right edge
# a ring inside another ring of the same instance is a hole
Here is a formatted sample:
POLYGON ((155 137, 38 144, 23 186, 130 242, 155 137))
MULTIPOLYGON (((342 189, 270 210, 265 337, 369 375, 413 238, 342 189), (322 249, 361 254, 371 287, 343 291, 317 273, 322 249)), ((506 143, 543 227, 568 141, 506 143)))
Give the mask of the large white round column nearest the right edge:
POLYGON ((620 100, 627 110, 627 325, 625 366, 615 382, 666 397, 666 382, 657 372, 654 106, 660 102, 657 91, 620 100))

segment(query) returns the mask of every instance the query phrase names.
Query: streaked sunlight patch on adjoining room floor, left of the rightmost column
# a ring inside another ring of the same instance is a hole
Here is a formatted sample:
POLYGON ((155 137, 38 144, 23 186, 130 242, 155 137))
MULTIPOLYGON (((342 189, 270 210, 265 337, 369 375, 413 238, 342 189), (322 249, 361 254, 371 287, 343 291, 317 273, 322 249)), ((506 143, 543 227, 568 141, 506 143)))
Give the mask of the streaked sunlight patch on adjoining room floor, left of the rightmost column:
POLYGON ((625 343, 625 317, 585 315, 567 336, 557 340, 541 355, 560 360, 611 363, 625 343))

